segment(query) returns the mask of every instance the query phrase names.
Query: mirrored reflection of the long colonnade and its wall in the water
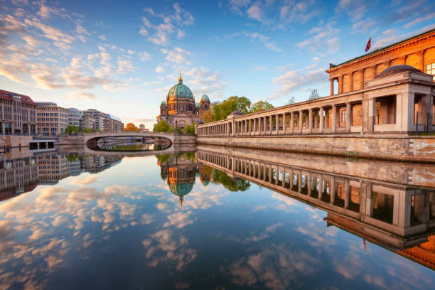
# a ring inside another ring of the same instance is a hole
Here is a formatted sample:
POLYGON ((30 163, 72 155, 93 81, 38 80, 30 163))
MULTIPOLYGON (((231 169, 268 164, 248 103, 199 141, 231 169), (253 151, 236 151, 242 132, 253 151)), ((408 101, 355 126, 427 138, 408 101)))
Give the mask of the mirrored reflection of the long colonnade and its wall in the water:
POLYGON ((276 156, 279 161, 274 161, 268 154, 198 146, 195 157, 233 180, 243 178, 324 210, 326 225, 339 227, 435 269, 435 188, 427 186, 434 181, 425 178, 433 176, 435 166, 363 159, 355 162, 331 156, 285 153, 279 153, 276 156), (316 163, 306 162, 305 167, 295 165, 303 163, 303 159, 315 158, 316 163), (337 166, 333 166, 333 172, 313 169, 321 167, 322 162, 337 166), (348 162, 352 162, 351 168, 348 162), (382 168, 382 164, 387 168, 382 168), (375 166, 375 173, 367 173, 367 168, 375 166), (405 173, 380 178, 382 172, 399 172, 399 168, 405 173), (404 176, 406 174, 412 178, 404 176), (370 175, 377 178, 367 178, 370 175))

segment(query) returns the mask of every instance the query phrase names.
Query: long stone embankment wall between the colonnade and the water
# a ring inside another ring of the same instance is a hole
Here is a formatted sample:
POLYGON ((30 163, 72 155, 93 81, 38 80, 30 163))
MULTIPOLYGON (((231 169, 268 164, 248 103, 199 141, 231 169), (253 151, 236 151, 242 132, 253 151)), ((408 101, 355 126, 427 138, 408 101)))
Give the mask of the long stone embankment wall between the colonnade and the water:
POLYGON ((197 144, 393 161, 435 162, 434 136, 308 135, 198 136, 197 144))

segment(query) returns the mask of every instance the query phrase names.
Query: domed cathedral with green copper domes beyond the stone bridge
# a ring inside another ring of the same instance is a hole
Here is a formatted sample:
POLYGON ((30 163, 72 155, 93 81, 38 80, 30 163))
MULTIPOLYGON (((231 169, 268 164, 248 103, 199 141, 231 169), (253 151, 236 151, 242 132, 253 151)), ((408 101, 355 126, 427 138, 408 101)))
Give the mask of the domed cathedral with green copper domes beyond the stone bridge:
POLYGON ((195 103, 192 91, 187 85, 183 85, 180 75, 178 84, 171 87, 166 95, 166 102, 163 101, 160 104, 160 115, 157 116, 157 122, 165 120, 173 129, 180 127, 183 130, 193 123, 203 124, 200 116, 208 109, 210 109, 208 95, 204 94, 200 102, 195 103))

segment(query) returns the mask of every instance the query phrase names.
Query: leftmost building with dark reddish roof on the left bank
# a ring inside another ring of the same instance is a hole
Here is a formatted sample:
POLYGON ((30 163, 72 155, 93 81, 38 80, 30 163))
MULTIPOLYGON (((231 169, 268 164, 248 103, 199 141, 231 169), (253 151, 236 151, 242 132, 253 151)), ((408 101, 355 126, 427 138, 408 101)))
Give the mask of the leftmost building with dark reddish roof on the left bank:
POLYGON ((31 97, 0 90, 0 134, 36 134, 36 104, 31 97))

